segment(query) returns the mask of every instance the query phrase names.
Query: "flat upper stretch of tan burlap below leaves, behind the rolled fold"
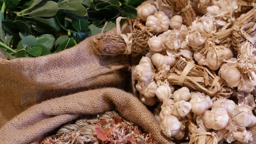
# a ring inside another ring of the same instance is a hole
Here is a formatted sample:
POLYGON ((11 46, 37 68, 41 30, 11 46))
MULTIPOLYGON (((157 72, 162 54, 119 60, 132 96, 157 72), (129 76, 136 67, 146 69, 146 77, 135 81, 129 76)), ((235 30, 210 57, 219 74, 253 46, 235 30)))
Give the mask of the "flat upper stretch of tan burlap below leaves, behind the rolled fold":
POLYGON ((0 127, 49 98, 105 86, 130 87, 128 66, 128 56, 95 56, 92 37, 48 56, 7 60, 0 54, 0 127))

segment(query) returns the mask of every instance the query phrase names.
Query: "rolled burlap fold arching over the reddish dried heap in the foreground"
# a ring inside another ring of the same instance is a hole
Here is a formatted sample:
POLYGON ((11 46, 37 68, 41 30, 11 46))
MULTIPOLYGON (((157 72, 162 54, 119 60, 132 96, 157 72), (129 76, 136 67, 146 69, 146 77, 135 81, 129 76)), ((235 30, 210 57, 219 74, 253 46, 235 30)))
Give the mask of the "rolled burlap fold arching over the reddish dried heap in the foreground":
POLYGON ((0 144, 40 141, 45 134, 81 114, 97 114, 114 109, 151 133, 159 144, 173 144, 164 138, 154 116, 138 98, 117 88, 79 92, 34 105, 0 129, 0 144))

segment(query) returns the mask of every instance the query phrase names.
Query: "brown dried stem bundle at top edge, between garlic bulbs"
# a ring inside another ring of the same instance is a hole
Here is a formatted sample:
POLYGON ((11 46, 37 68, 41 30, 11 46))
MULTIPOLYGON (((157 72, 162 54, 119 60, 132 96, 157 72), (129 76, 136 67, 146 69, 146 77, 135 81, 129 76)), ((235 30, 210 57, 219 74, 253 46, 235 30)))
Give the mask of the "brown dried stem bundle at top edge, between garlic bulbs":
POLYGON ((163 2, 173 7, 175 14, 182 16, 185 25, 191 26, 196 20, 196 13, 190 5, 190 0, 163 0, 163 2))

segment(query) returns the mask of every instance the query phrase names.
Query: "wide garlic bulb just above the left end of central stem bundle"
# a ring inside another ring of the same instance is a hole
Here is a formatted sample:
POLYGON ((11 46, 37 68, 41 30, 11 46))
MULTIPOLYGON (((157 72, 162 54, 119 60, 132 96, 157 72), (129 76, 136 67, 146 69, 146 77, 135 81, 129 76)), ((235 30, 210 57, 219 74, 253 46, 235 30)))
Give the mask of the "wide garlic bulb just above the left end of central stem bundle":
POLYGON ((170 65, 170 67, 173 67, 176 61, 174 56, 163 56, 160 53, 155 53, 151 59, 157 69, 161 68, 162 65, 170 65))

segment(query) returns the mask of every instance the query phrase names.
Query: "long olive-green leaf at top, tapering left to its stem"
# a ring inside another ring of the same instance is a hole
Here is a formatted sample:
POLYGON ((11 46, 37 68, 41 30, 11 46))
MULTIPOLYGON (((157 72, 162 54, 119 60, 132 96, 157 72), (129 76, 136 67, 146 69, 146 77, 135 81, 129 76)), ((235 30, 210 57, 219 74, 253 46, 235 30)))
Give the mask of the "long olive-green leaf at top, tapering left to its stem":
POLYGON ((42 17, 51 17, 56 15, 58 12, 58 3, 54 1, 47 1, 43 6, 33 10, 30 13, 23 13, 23 16, 42 16, 42 17))

